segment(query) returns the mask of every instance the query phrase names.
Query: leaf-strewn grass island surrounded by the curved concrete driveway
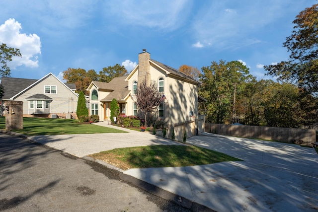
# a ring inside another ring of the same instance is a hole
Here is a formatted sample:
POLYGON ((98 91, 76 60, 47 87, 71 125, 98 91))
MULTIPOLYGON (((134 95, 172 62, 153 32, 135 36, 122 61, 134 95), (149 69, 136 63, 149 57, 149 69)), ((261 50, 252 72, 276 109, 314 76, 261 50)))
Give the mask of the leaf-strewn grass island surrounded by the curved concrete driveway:
POLYGON ((193 145, 151 145, 117 148, 88 156, 103 160, 123 170, 242 161, 221 152, 193 145))

